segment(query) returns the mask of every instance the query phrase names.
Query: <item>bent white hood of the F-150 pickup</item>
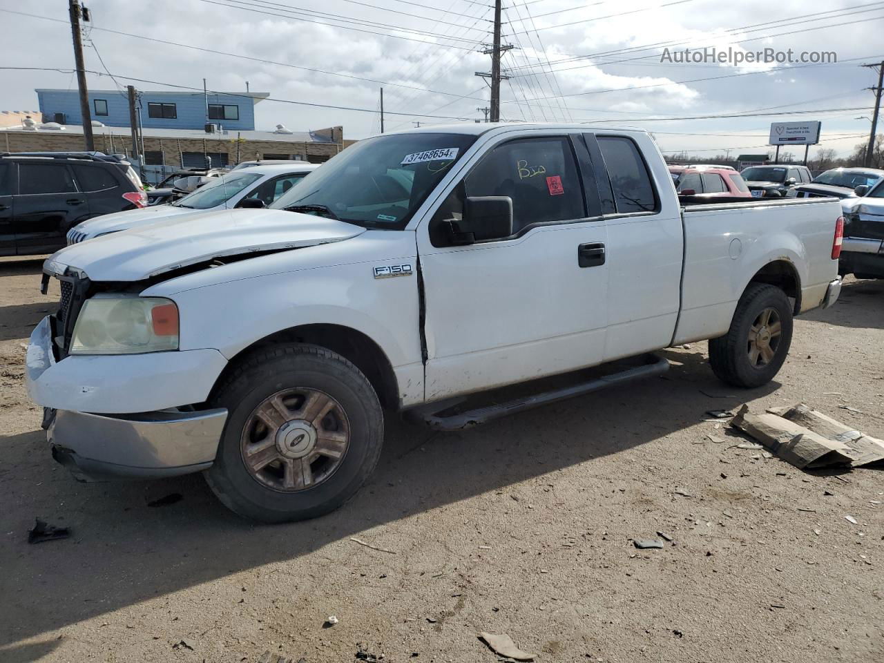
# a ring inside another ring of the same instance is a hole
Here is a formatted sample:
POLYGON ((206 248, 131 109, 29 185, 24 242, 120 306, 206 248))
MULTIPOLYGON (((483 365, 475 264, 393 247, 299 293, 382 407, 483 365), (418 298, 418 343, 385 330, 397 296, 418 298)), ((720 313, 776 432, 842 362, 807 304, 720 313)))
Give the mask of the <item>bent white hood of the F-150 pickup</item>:
POLYGON ((64 274, 71 267, 93 281, 140 281, 212 258, 311 247, 362 232, 359 225, 285 210, 218 210, 73 244, 50 255, 43 270, 64 274))

